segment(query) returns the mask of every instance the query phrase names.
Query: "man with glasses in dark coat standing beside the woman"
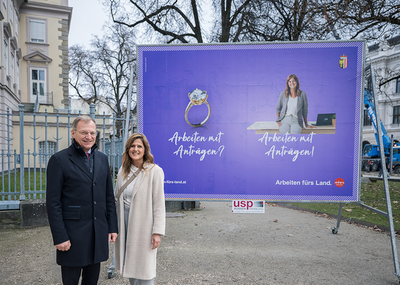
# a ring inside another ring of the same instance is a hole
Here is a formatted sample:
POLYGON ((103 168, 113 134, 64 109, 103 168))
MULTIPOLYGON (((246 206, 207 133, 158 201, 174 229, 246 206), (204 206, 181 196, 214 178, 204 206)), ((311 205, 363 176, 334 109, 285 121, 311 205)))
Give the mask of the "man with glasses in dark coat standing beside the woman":
POLYGON ((113 183, 106 155, 96 150, 95 121, 77 117, 71 134, 72 145, 47 166, 47 214, 63 284, 77 285, 82 273, 82 285, 95 285, 118 233, 113 183))

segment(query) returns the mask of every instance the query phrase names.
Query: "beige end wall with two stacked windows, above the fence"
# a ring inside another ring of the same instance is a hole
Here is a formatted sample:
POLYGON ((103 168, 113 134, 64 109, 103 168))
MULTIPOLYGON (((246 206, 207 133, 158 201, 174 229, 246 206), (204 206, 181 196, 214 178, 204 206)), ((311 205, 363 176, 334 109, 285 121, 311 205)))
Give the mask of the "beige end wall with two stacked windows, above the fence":
POLYGON ((72 8, 67 0, 29 1, 20 8, 24 102, 68 109, 68 33, 72 8))

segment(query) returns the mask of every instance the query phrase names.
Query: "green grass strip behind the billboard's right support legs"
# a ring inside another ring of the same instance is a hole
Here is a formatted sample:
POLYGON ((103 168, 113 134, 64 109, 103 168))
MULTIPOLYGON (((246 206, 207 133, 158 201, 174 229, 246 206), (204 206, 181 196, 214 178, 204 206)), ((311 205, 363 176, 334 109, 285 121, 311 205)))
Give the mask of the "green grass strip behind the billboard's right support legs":
MULTIPOLYGON (((392 203, 394 227, 395 229, 400 229, 400 183, 389 181, 389 192, 392 203)), ((362 183, 360 196, 360 200, 364 202, 364 204, 387 212, 383 181, 362 183)), ((291 203, 291 205, 332 215, 337 215, 339 212, 338 203, 291 203)), ((357 204, 343 204, 342 218, 389 227, 388 218, 357 204)))

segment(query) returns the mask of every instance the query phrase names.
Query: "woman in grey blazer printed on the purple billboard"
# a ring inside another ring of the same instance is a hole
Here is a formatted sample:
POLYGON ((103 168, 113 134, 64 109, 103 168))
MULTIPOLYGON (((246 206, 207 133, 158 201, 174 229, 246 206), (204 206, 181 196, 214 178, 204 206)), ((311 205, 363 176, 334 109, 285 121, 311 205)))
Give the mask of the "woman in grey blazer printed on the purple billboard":
POLYGON ((308 124, 307 114, 307 95, 300 90, 297 76, 291 74, 286 79, 286 88, 279 95, 278 106, 276 107, 276 122, 279 126, 279 132, 281 134, 300 134, 304 127, 315 128, 308 124))

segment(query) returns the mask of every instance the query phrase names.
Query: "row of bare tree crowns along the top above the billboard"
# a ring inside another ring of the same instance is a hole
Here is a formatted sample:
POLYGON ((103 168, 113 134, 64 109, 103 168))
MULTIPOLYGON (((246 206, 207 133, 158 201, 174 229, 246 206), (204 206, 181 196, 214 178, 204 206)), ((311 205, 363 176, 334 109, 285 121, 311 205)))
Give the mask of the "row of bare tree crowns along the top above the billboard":
POLYGON ((103 2, 114 22, 142 27, 159 43, 324 40, 334 30, 343 39, 380 39, 400 24, 400 0, 103 2))

